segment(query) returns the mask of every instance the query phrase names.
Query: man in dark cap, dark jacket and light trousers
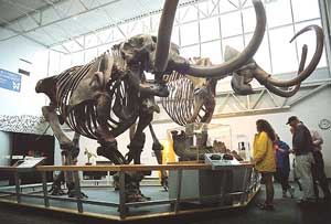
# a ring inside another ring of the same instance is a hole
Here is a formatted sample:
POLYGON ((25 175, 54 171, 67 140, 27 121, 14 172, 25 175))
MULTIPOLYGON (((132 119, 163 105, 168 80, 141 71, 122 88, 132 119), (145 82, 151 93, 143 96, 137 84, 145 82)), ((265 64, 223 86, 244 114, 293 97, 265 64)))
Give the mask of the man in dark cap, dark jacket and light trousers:
POLYGON ((296 116, 288 118, 287 125, 293 129, 292 149, 296 154, 297 171, 301 178, 303 196, 301 203, 314 202, 311 168, 313 164, 313 143, 310 131, 296 116))

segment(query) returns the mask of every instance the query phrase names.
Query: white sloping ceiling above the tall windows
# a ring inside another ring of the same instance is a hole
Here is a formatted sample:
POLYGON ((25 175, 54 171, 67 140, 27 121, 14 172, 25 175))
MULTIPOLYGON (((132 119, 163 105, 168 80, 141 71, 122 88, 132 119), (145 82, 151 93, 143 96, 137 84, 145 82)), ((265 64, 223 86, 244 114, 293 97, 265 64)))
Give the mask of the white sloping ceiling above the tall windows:
MULTIPOLYGON (((191 0, 192 2, 196 0, 191 0)), ((180 4, 191 2, 181 0, 180 4)), ((164 0, 0 0, 0 42, 45 47, 160 11, 164 0)))

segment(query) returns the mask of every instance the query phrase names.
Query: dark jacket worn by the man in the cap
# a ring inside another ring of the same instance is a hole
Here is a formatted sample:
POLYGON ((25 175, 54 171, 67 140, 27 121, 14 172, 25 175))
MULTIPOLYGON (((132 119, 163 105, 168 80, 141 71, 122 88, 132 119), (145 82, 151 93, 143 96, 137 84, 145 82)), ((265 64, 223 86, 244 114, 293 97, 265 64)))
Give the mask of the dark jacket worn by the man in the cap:
POLYGON ((302 122, 299 122, 295 129, 292 145, 297 156, 307 154, 313 149, 310 131, 302 122))

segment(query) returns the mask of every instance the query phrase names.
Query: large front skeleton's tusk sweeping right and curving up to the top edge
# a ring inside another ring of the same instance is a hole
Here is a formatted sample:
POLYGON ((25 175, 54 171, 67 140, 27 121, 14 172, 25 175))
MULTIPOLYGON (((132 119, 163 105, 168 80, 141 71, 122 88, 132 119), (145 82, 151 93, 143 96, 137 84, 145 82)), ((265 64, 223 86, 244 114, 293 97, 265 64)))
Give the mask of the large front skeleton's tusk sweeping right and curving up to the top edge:
POLYGON ((232 73, 245 65, 257 52, 259 44, 263 41, 266 28, 266 12, 263 3, 260 0, 253 0, 253 4, 256 13, 256 26, 249 44, 241 54, 227 62, 224 62, 223 64, 209 67, 173 62, 175 64, 175 70, 196 77, 218 78, 224 77, 228 73, 232 73))

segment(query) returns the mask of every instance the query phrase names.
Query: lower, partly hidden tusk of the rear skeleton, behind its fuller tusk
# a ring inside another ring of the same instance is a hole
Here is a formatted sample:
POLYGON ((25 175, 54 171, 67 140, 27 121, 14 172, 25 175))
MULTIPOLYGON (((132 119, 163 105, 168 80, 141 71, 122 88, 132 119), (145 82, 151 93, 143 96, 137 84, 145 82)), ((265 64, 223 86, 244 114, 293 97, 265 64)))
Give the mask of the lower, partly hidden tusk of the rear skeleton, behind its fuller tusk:
MULTIPOLYGON (((299 65, 299 70, 298 70, 298 74, 300 74, 303 68, 305 68, 305 64, 306 64, 306 60, 307 60, 307 52, 308 52, 308 49, 307 49, 307 45, 305 44, 302 46, 302 52, 301 52, 301 61, 300 61, 300 65, 299 65)), ((271 93, 278 95, 278 96, 281 96, 281 97, 291 97, 293 96, 300 88, 300 83, 298 85, 296 85, 296 87, 291 90, 281 90, 275 86, 273 86, 270 83, 266 83, 266 88, 268 90, 270 90, 271 93)))

